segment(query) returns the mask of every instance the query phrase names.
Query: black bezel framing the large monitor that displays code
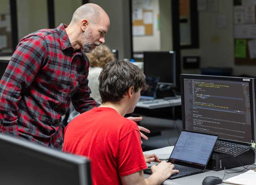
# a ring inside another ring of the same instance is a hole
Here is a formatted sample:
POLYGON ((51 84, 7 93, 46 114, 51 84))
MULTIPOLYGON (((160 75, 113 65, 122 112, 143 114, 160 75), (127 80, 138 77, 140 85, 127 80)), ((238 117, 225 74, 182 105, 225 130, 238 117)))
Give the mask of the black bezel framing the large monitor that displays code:
MULTIPOLYGON (((250 93, 250 109, 251 109, 251 138, 255 141, 255 133, 256 133, 256 121, 255 121, 255 78, 243 78, 243 77, 233 77, 233 76, 210 76, 210 75, 187 75, 181 74, 181 109, 182 109, 182 128, 185 130, 185 104, 184 104, 184 79, 199 79, 199 80, 223 80, 223 81, 237 81, 237 82, 248 82, 249 83, 249 93, 250 93), (249 79, 250 81, 245 81, 245 79, 249 79)), ((235 143, 240 144, 251 144, 251 142, 243 142, 237 140, 228 140, 226 138, 219 137, 220 140, 225 141, 233 141, 235 143)))

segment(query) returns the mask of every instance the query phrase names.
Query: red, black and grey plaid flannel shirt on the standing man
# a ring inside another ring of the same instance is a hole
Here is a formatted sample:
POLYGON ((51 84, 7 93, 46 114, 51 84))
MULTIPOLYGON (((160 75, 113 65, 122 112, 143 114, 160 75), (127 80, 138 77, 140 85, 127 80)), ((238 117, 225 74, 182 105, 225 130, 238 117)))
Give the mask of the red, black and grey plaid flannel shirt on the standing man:
POLYGON ((98 105, 87 86, 89 60, 74 51, 66 27, 21 39, 0 81, 0 132, 62 148, 70 102, 80 113, 98 105))

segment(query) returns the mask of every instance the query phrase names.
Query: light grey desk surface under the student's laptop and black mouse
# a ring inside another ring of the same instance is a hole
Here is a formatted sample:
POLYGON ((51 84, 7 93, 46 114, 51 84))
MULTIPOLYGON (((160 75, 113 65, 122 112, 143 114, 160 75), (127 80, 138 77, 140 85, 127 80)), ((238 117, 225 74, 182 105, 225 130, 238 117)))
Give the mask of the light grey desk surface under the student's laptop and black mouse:
MULTIPOLYGON (((151 151, 146 151, 143 152, 144 154, 156 154, 160 159, 167 159, 169 158, 171 152, 172 152, 173 146, 167 146, 165 148, 160 148, 160 149, 155 149, 155 150, 151 150, 151 151)), ((151 162, 152 163, 152 162, 151 162)), ((256 163, 254 163, 256 164, 256 163)), ((150 166, 150 165, 148 165, 150 166)), ((249 168, 253 168, 253 166, 249 167, 249 168)), ((236 167, 236 168, 232 168, 232 169, 227 169, 226 171, 228 172, 236 172, 236 171, 240 171, 243 170, 243 167, 236 167)), ((238 172, 238 173, 234 173, 234 174, 226 174, 225 175, 225 179, 228 179, 230 177, 234 177, 236 175, 239 175, 241 173, 246 172, 247 170, 243 171, 243 172, 238 172)), ((144 174, 144 177, 148 177, 148 174, 144 174)), ((202 185, 203 179, 207 176, 216 176, 219 177, 220 179, 223 178, 224 176, 224 170, 220 170, 220 171, 212 171, 212 170, 205 170, 205 172, 200 173, 200 174, 196 174, 196 175, 190 175, 188 177, 182 177, 182 178, 178 178, 178 179, 167 179, 166 181, 164 181, 164 185, 202 185)), ((221 185, 228 185, 226 183, 221 183, 221 185)))

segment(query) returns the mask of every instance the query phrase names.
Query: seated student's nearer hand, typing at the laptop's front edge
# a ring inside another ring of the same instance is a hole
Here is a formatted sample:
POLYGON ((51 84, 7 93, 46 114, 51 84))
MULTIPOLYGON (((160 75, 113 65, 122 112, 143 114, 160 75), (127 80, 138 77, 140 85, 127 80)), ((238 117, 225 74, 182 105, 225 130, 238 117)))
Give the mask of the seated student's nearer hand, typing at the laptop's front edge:
POLYGON ((161 175, 164 179, 169 178, 172 174, 179 173, 179 170, 172 170, 174 168, 174 165, 171 164, 171 162, 162 161, 157 166, 152 165, 151 171, 152 173, 158 173, 161 175))

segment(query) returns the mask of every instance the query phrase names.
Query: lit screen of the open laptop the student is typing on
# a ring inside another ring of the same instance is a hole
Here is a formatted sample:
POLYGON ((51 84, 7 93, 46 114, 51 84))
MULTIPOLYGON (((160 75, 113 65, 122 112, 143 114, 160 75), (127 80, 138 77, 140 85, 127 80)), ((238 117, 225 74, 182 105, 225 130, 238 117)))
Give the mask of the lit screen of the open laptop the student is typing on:
POLYGON ((182 130, 169 161, 205 167, 217 139, 217 135, 182 130))

